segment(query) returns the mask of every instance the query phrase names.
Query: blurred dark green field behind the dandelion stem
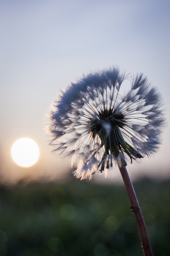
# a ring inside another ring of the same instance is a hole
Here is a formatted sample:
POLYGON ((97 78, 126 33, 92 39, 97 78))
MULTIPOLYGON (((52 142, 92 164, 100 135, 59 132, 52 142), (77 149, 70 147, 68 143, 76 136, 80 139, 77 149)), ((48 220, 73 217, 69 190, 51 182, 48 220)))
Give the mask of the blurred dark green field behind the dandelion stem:
MULTIPOLYGON (((170 255, 170 181, 134 189, 154 256, 170 255)), ((0 256, 142 256, 125 188, 72 179, 0 187, 0 256)))

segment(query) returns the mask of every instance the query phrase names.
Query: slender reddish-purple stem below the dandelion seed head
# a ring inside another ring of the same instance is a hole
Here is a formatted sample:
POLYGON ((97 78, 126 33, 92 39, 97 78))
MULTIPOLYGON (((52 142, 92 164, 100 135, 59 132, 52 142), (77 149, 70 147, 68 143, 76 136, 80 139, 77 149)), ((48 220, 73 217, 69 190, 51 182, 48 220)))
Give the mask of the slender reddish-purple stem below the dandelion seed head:
POLYGON ((132 182, 129 178, 127 169, 125 166, 120 164, 120 162, 118 162, 118 161, 117 161, 117 165, 121 172, 123 182, 125 184, 125 188, 128 193, 128 197, 129 197, 130 204, 131 204, 131 206, 130 206, 131 211, 135 213, 135 218, 137 221, 137 227, 138 227, 139 235, 140 235, 141 242, 142 242, 144 256, 153 256, 150 240, 149 240, 146 225, 144 222, 144 217, 142 215, 142 211, 140 209, 140 206, 139 206, 139 203, 137 200, 137 196, 135 194, 135 190, 133 188, 132 182))

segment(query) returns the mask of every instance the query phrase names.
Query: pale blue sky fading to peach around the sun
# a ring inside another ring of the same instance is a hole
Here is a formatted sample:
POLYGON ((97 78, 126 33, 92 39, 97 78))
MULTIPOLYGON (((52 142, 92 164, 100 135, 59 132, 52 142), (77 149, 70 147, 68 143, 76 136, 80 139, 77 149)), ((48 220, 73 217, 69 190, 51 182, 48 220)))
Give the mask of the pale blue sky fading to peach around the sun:
MULTIPOLYGON (((66 177, 65 161, 48 145, 50 105, 82 74, 117 65, 127 73, 144 73, 165 104, 160 150, 128 166, 130 177, 170 177, 169 10, 168 0, 0 0, 1 182, 66 177), (40 148, 33 167, 18 167, 11 159, 11 145, 21 137, 40 148)), ((112 181, 120 178, 116 172, 112 181)))

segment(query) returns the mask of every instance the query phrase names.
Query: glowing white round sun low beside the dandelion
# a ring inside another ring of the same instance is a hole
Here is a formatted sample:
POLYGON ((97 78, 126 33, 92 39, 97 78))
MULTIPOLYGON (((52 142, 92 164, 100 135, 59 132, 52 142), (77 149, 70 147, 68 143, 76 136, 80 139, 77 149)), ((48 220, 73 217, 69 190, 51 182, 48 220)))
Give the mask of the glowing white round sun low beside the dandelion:
POLYGON ((39 154, 38 145, 30 138, 20 138, 11 147, 11 157, 21 167, 33 166, 39 154))

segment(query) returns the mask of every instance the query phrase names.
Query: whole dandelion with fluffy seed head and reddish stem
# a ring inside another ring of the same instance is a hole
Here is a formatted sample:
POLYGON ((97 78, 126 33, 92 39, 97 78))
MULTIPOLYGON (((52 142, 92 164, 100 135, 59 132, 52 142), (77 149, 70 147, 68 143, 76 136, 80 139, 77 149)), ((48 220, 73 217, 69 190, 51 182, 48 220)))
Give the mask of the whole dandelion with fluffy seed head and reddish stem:
MULTIPOLYGON (((50 112, 49 130, 54 151, 77 167, 77 178, 91 179, 97 172, 110 177, 118 166, 138 216, 142 213, 126 166, 159 149, 163 124, 162 98, 147 78, 110 68, 83 76, 60 93, 50 112)), ((146 227, 139 233, 145 255, 152 255, 151 249, 145 252, 146 227)))

